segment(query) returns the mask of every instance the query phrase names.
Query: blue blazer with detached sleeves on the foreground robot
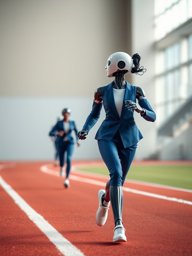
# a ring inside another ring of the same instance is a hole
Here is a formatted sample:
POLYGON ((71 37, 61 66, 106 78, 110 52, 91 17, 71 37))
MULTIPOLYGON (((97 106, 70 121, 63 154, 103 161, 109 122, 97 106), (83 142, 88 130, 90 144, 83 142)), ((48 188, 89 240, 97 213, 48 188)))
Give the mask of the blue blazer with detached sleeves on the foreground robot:
MULTIPOLYGON (((125 148, 133 146, 140 141, 143 136, 134 121, 134 110, 128 110, 124 103, 125 100, 136 102, 136 86, 132 86, 126 82, 121 116, 119 116, 115 107, 113 82, 103 87, 102 99, 103 103, 95 103, 95 101, 93 101, 92 111, 88 116, 83 129, 87 130, 89 133, 90 129, 98 121, 103 105, 106 117, 95 135, 96 140, 105 140, 109 142, 119 130, 125 148)), ((146 111, 146 115, 141 116, 147 121, 154 122, 156 115, 147 99, 142 99, 138 103, 146 111)))

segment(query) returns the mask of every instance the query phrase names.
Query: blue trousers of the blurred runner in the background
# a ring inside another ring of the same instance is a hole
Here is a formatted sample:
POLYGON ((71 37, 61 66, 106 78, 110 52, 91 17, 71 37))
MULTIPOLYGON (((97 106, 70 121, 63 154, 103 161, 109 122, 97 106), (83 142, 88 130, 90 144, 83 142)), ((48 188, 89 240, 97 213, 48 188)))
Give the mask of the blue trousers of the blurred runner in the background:
POLYGON ((58 145, 59 161, 60 161, 61 167, 63 167, 65 163, 65 152, 67 152, 66 178, 68 178, 70 168, 71 168, 71 157, 73 154, 73 149, 74 149, 74 144, 71 144, 68 141, 63 141, 61 144, 58 145))

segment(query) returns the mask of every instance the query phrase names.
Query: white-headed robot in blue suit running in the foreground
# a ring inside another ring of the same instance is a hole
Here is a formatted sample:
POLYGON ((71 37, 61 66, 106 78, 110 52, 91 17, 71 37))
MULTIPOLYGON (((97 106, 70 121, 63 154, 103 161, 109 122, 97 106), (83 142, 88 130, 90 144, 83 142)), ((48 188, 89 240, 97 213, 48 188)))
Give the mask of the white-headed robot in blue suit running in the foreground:
POLYGON ((117 243, 126 242, 122 220, 122 186, 133 161, 137 142, 143 138, 134 121, 133 113, 136 111, 146 121, 154 122, 156 119, 144 90, 132 86, 124 78, 124 75, 130 72, 143 74, 146 71, 140 67, 140 59, 138 54, 131 57, 125 52, 115 52, 108 58, 105 67, 107 76, 115 77, 115 80, 95 91, 92 111, 83 129, 77 134, 80 140, 86 139, 104 106, 106 117, 95 139, 98 141, 101 157, 109 170, 110 180, 106 183, 105 190, 100 189, 98 192, 99 208, 96 222, 99 226, 105 224, 111 201, 115 222, 113 242, 117 243))

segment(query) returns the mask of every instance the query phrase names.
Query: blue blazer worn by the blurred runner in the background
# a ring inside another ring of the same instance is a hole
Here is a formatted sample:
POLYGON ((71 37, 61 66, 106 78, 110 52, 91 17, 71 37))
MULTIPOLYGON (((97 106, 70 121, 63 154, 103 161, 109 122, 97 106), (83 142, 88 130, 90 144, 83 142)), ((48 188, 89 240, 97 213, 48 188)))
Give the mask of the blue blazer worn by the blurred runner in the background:
MULTIPOLYGON (((74 144, 73 137, 71 136, 71 132, 72 132, 73 130, 75 131, 76 137, 77 137, 78 131, 77 131, 77 129, 76 129, 75 122, 69 120, 69 131, 68 131, 68 133, 64 133, 62 137, 61 137, 61 136, 58 136, 58 139, 57 139, 57 140, 58 140, 58 145, 59 145, 59 144, 62 144, 63 139, 64 139, 66 136, 67 136, 68 142, 71 143, 71 144, 74 144)), ((57 132, 60 132, 60 131, 64 131, 64 130, 63 130, 63 120, 58 121, 58 122, 56 123, 56 125, 55 125, 55 126, 53 127, 53 129, 50 131, 49 136, 57 136, 57 135, 56 135, 57 132)), ((78 137, 77 137, 77 139, 78 139, 78 137)))

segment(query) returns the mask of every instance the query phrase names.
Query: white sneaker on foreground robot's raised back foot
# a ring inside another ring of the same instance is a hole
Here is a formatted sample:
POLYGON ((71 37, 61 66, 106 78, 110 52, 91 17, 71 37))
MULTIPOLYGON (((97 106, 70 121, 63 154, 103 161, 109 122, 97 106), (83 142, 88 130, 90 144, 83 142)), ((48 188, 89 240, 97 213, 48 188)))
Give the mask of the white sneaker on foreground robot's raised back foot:
MULTIPOLYGON (((107 220, 107 216, 108 216, 108 209, 109 206, 103 206, 102 205, 102 201, 101 198, 102 196, 105 194, 105 190, 104 189, 100 189, 98 191, 98 198, 99 198, 99 209, 96 213, 95 219, 97 222, 98 226, 103 226, 107 220)), ((110 205, 110 202, 109 202, 110 205)))

